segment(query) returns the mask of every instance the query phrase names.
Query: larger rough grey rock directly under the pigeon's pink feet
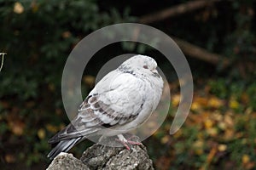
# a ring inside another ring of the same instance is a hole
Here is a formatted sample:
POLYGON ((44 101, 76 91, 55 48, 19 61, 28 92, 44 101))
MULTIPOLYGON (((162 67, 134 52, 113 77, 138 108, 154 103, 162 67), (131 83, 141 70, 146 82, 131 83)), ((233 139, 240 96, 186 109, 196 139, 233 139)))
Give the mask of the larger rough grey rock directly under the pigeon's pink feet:
POLYGON ((143 145, 126 150, 94 144, 84 151, 80 160, 90 169, 154 169, 143 145))

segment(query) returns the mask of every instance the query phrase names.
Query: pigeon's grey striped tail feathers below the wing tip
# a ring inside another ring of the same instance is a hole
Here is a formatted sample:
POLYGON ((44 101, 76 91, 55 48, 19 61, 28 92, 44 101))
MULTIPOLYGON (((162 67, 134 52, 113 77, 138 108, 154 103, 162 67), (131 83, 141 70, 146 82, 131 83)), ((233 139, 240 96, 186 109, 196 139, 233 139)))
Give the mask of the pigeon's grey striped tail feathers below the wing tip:
POLYGON ((67 152, 73 147, 73 145, 79 143, 80 139, 82 139, 82 137, 79 137, 76 139, 61 140, 59 144, 57 144, 55 148, 49 152, 47 157, 49 157, 49 159, 52 160, 55 158, 55 156, 58 156, 61 152, 67 152))

